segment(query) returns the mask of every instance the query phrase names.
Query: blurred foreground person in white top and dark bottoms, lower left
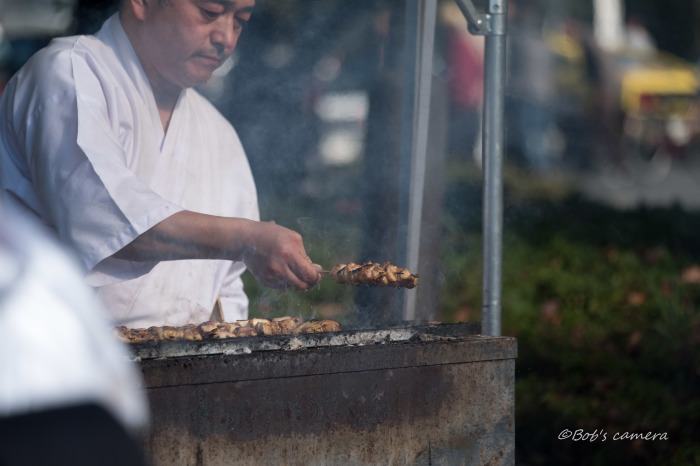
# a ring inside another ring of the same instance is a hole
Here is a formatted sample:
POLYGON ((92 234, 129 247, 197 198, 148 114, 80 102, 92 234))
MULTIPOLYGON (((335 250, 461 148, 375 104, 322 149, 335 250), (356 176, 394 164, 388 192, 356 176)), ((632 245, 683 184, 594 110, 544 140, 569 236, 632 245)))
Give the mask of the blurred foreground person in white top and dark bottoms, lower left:
POLYGON ((140 377, 72 256, 0 204, 0 465, 140 465, 140 377))

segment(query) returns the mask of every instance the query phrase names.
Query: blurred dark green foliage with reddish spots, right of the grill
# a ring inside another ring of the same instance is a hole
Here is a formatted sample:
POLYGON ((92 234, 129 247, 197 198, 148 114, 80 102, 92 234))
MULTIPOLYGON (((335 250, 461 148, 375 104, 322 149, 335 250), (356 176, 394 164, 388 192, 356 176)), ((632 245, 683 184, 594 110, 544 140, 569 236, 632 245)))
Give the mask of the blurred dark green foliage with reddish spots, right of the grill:
MULTIPOLYGON (((503 334, 518 338, 518 462, 700 464, 700 215, 512 188, 502 301, 503 334), (564 429, 607 440, 558 440, 564 429)), ((449 213, 443 321, 481 308, 480 226, 449 213)))

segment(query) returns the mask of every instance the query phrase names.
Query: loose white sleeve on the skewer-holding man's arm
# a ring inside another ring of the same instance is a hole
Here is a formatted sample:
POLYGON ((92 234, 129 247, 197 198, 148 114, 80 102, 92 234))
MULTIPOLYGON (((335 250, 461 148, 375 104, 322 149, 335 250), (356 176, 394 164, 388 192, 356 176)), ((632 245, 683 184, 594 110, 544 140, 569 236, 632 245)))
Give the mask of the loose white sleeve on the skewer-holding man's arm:
POLYGON ((147 273, 155 263, 110 256, 182 209, 127 167, 107 102, 95 98, 99 92, 94 88, 101 83, 88 66, 80 68, 63 57, 44 60, 36 71, 22 83, 32 97, 25 96, 30 102, 15 115, 14 124, 47 223, 77 251, 91 285, 147 273), (49 70, 52 79, 42 79, 49 70), (91 92, 78 93, 73 79, 75 84, 84 81, 81 85, 91 92))

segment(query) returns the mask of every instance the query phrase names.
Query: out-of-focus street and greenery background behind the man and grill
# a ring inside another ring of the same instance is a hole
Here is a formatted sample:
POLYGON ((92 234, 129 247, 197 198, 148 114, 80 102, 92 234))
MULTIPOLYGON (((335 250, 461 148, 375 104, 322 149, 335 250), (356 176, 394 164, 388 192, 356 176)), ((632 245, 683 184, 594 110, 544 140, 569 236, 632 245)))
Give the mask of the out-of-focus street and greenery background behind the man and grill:
MULTIPOLYGON (((518 464, 700 464, 700 0, 508 3, 503 334, 519 344, 518 464), (558 440, 563 429, 608 441, 558 440)), ((114 8, 2 0, 2 82, 114 8)), ((199 89, 241 137, 263 219, 299 231, 326 268, 397 258, 405 10, 258 0, 199 89)), ((421 320, 480 319, 483 65, 483 38, 439 1, 421 320)), ((348 325, 390 320, 399 299, 329 281, 272 291, 249 276, 246 290, 254 315, 348 325)))

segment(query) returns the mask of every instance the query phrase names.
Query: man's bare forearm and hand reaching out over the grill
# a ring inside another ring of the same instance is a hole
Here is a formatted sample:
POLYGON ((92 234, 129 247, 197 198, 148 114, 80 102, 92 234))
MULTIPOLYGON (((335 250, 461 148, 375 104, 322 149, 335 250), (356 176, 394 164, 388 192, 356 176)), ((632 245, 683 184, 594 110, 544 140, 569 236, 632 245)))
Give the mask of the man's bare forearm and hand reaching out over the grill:
POLYGON ((129 261, 242 261, 265 286, 307 289, 321 280, 301 235, 274 223, 178 212, 114 254, 129 261))

